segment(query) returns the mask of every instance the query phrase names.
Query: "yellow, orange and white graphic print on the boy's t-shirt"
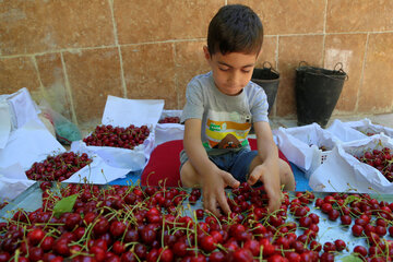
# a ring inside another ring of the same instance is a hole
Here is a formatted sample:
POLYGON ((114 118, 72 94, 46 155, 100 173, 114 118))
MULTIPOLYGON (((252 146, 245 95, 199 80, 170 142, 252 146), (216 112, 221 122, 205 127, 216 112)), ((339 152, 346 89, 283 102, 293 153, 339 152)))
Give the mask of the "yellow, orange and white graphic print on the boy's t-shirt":
POLYGON ((251 117, 233 111, 210 110, 206 117, 205 134, 207 148, 237 148, 247 145, 251 117))

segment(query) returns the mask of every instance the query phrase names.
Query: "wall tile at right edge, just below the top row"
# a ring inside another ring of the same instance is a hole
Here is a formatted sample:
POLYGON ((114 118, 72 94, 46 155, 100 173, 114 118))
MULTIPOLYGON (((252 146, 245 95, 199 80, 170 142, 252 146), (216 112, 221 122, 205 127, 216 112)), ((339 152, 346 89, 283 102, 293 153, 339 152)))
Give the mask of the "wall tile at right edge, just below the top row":
POLYGON ((358 111, 393 110, 393 34, 369 36, 364 80, 360 85, 358 111))

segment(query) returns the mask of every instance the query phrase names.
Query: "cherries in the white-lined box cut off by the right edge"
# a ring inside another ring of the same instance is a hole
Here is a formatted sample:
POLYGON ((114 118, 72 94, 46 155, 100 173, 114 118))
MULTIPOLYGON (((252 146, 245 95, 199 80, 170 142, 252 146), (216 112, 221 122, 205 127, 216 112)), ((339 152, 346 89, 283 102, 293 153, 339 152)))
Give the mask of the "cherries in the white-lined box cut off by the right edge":
POLYGON ((356 157, 377 168, 390 182, 393 182, 393 155, 391 148, 366 151, 361 156, 356 157))

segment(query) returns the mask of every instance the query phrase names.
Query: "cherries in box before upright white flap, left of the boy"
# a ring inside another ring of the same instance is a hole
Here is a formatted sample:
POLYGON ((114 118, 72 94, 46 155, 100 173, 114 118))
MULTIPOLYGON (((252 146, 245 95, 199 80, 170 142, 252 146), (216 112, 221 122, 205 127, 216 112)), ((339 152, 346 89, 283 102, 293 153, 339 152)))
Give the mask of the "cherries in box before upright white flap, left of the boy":
POLYGON ((112 127, 111 124, 97 126, 94 132, 83 139, 86 145, 111 146, 133 150, 143 144, 147 139, 150 130, 147 126, 135 127, 130 124, 127 128, 112 127))

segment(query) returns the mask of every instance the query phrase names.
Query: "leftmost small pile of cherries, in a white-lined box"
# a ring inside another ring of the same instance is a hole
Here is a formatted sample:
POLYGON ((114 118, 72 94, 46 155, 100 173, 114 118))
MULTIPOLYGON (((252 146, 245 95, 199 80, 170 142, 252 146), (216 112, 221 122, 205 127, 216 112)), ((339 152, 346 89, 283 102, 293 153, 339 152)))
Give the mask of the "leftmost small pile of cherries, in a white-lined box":
POLYGON ((86 153, 78 154, 71 151, 48 156, 43 162, 35 162, 25 172, 27 178, 32 180, 60 182, 69 179, 73 174, 92 162, 86 153))

